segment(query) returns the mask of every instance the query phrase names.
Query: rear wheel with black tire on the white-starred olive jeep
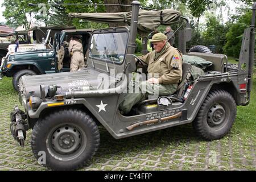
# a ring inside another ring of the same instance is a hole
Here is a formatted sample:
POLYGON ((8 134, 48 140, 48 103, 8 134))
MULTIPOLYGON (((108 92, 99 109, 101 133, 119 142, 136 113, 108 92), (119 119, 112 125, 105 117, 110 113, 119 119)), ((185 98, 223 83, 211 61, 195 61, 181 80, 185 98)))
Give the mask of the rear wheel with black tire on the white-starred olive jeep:
POLYGON ((229 133, 236 115, 237 105, 233 96, 225 90, 213 90, 201 105, 193 127, 204 139, 220 139, 229 133))

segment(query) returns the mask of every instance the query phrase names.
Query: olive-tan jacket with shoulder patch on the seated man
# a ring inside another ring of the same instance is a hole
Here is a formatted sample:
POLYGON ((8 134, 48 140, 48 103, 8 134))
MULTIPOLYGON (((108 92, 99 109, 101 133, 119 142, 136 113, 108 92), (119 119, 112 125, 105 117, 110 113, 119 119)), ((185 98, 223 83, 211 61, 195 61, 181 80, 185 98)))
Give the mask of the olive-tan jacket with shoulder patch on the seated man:
POLYGON ((179 84, 182 77, 182 53, 167 43, 165 50, 140 57, 148 64, 148 73, 159 74, 159 84, 179 84))

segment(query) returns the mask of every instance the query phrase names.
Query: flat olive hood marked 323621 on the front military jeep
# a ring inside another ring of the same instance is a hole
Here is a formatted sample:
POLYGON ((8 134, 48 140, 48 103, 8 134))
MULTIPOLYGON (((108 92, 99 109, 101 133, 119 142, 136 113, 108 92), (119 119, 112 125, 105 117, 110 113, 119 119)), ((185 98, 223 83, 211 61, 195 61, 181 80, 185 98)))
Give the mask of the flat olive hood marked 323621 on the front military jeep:
MULTIPOLYGON (((23 76, 19 82, 19 94, 20 96, 26 96, 28 99, 30 96, 41 97, 40 85, 57 85, 58 91, 71 91, 71 90, 97 90, 98 86, 102 83, 102 77, 98 77, 101 72, 94 69, 82 69, 77 72, 63 72, 52 73, 47 75, 34 75, 23 76)), ((47 89, 46 95, 47 95, 47 89)))

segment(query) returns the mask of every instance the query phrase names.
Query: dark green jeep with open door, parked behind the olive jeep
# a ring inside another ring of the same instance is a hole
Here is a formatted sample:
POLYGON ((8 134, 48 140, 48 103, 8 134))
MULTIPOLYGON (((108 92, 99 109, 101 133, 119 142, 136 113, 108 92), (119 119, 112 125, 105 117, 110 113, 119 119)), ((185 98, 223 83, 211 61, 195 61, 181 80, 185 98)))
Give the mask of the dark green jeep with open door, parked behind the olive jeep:
MULTIPOLYGON (((68 46, 66 45, 64 48, 62 46, 63 42, 67 42, 72 34, 82 35, 82 44, 85 54, 90 40, 90 30, 61 30, 60 28, 57 30, 48 30, 45 39, 47 46, 41 46, 41 48, 35 49, 34 51, 8 54, 3 59, 1 65, 0 80, 2 76, 13 77, 13 87, 18 91, 19 80, 24 75, 68 72, 71 58, 68 55, 68 46), (61 33, 59 34, 60 31, 61 33)), ((44 43, 42 43, 42 45, 44 45, 44 43)))

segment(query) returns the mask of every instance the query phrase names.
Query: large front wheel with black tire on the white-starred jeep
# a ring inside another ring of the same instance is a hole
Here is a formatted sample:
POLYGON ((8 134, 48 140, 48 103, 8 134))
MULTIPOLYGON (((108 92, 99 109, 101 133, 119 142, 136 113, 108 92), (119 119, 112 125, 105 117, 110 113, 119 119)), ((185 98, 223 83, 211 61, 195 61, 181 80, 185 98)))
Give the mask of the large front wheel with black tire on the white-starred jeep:
POLYGON ((99 145, 96 122, 84 111, 76 109, 55 111, 39 119, 31 135, 31 148, 36 159, 40 157, 39 152, 44 151, 44 166, 54 170, 81 168, 92 159, 99 145), (68 143, 65 143, 66 139, 68 143))

